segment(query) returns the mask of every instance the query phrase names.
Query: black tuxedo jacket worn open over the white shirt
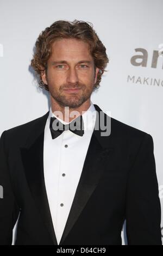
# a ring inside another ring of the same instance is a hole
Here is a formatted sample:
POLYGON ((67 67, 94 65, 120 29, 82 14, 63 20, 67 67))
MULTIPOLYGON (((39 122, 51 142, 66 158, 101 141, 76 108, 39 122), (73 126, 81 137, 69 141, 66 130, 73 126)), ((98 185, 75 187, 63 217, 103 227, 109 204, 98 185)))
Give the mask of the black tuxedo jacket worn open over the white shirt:
MULTIPOLYGON (((1 245, 19 214, 15 245, 57 245, 43 175, 48 114, 2 133, 1 245)), ((158 193, 151 135, 111 118, 110 136, 92 133, 59 245, 121 245, 124 220, 129 245, 161 245, 158 193)))

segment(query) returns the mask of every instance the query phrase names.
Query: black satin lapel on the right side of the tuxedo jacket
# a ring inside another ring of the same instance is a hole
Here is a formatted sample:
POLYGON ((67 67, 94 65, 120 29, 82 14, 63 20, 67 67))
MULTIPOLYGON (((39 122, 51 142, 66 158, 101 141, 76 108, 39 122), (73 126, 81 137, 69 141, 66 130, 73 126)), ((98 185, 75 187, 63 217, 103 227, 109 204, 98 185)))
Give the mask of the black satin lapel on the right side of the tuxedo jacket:
MULTIPOLYGON (((102 111, 94 105, 97 112, 102 111)), ((106 116, 105 116, 106 117, 106 116)), ((97 119, 96 119, 97 121, 97 119)), ((59 245, 62 245, 67 235, 70 233, 74 223, 79 218, 86 203, 101 178, 104 168, 110 164, 114 149, 111 144, 110 136, 101 137, 101 130, 94 130, 92 133, 89 149, 85 158, 82 174, 71 206, 70 214, 65 225, 59 245)))

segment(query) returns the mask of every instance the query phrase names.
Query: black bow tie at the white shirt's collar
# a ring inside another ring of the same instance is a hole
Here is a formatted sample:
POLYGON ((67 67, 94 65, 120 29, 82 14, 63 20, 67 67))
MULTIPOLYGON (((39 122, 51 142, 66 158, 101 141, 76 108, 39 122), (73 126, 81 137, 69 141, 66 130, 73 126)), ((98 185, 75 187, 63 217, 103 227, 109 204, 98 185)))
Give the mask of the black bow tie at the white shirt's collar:
POLYGON ((62 132, 70 130, 79 136, 84 135, 84 122, 82 115, 72 120, 70 124, 62 124, 57 118, 51 117, 50 130, 52 139, 57 138, 62 132))

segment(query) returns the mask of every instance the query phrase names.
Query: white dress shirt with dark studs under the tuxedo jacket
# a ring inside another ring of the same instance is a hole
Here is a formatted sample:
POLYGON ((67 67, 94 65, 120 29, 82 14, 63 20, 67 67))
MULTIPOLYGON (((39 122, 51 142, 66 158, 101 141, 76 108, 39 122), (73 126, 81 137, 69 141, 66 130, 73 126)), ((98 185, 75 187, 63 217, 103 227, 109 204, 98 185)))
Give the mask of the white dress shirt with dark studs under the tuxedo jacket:
MULTIPOLYGON (((83 136, 68 130, 52 139, 49 129, 51 117, 56 117, 52 113, 52 108, 49 110, 45 126, 43 168, 49 208, 59 245, 95 127, 96 109, 91 102, 89 109, 82 115, 84 121, 83 136)), ((59 120, 62 124, 68 124, 61 119, 59 120)))

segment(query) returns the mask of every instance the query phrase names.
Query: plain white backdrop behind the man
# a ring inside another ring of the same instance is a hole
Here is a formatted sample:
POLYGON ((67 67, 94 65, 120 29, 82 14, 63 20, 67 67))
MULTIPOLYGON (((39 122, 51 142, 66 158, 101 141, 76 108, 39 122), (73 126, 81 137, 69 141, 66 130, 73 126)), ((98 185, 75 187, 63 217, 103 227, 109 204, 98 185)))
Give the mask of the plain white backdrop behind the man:
POLYGON ((163 209, 162 9, 162 0, 0 0, 0 134, 49 109, 48 94, 38 89, 29 67, 40 32, 57 20, 92 22, 110 62, 91 100, 152 135, 163 209), (131 60, 135 55, 143 56, 142 64, 141 58, 131 60))

